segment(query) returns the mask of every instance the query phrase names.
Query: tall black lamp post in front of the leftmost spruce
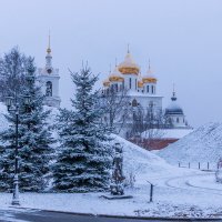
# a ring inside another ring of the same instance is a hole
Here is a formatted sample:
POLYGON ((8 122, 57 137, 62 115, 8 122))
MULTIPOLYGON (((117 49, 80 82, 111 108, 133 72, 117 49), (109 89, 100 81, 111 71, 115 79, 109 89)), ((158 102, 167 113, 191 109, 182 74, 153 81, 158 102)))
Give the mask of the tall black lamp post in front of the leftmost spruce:
MULTIPOLYGON (((23 101, 24 105, 30 104, 30 95, 24 95, 23 101)), ((20 105, 18 102, 18 97, 7 97, 6 98, 6 103, 8 107, 9 112, 14 112, 16 114, 16 150, 14 150, 14 179, 13 179, 13 196, 12 196, 12 205, 20 205, 19 202, 19 110, 20 105)))

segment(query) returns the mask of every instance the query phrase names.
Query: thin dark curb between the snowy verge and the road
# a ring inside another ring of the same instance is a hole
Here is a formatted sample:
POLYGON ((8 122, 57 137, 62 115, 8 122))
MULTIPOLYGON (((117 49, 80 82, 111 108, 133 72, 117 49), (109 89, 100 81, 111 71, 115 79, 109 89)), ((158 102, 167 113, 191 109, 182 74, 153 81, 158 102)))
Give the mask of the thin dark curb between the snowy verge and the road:
POLYGON ((133 215, 110 215, 110 214, 93 214, 93 213, 81 213, 81 212, 69 212, 69 211, 56 211, 56 210, 43 210, 43 209, 32 209, 23 206, 9 206, 11 209, 22 209, 22 210, 33 210, 33 211, 44 211, 51 213, 65 213, 72 215, 85 215, 85 216, 98 216, 98 218, 113 218, 113 219, 134 219, 134 220, 162 220, 162 221, 222 221, 222 218, 161 218, 161 216, 133 216, 133 215))

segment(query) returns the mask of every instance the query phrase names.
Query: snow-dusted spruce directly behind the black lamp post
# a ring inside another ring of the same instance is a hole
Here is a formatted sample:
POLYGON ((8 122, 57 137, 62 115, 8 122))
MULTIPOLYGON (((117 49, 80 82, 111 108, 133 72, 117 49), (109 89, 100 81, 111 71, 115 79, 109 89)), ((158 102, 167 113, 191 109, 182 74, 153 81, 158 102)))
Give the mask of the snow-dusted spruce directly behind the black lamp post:
MULTIPOLYGON (((22 94, 18 94, 19 112, 19 184, 21 191, 41 192, 46 188, 44 175, 49 172, 53 142, 47 123, 50 111, 43 110, 43 95, 37 85, 33 59, 27 60, 27 81, 22 94), (30 79, 31 78, 31 79, 30 79), (30 105, 24 104, 22 95, 30 95, 30 105)), ((0 158, 0 190, 12 188, 14 173, 16 114, 6 115, 10 128, 0 134, 3 154, 0 158)))

